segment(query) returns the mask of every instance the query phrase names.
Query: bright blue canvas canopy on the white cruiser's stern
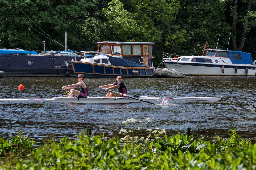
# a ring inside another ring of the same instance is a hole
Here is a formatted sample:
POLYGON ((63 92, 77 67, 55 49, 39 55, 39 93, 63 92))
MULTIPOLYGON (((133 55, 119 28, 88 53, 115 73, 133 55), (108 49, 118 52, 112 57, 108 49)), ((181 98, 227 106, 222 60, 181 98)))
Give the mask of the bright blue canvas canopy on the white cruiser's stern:
POLYGON ((228 51, 227 53, 233 64, 253 64, 250 53, 242 51, 228 51))

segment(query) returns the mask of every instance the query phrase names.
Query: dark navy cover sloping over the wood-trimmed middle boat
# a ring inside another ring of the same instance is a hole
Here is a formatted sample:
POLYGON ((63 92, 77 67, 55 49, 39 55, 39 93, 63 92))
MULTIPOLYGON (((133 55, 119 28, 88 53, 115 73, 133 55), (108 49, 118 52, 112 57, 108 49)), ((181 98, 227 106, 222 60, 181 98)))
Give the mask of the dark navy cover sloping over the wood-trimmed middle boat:
MULTIPOLYGON (((106 54, 103 54, 102 55, 106 55, 106 54)), ((143 65, 143 64, 139 64, 139 63, 135 63, 135 62, 132 62, 132 61, 128 61, 128 60, 125 60, 123 58, 119 58, 119 57, 112 57, 112 56, 109 56, 109 55, 106 55, 108 58, 109 58, 109 61, 112 65, 115 65, 115 66, 123 66, 123 67, 147 67, 147 65, 143 65)))

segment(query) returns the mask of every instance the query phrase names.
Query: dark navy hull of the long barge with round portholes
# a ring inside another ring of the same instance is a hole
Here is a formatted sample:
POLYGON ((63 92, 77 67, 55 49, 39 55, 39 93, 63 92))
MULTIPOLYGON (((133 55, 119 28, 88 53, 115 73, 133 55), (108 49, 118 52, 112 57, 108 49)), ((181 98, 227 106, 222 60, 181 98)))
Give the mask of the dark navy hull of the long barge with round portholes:
POLYGON ((0 55, 0 76, 75 76, 71 61, 84 57, 0 55))

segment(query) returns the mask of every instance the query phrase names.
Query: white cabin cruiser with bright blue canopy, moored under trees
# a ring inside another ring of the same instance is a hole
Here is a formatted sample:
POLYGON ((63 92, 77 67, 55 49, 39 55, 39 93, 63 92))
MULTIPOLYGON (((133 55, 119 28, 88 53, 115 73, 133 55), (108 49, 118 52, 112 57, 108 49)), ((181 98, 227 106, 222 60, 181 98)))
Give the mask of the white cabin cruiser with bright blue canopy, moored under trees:
POLYGON ((250 53, 231 50, 204 49, 201 56, 163 54, 169 70, 176 69, 185 75, 255 76, 256 65, 250 53))

